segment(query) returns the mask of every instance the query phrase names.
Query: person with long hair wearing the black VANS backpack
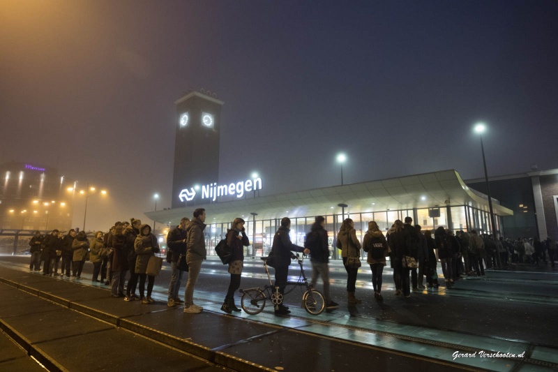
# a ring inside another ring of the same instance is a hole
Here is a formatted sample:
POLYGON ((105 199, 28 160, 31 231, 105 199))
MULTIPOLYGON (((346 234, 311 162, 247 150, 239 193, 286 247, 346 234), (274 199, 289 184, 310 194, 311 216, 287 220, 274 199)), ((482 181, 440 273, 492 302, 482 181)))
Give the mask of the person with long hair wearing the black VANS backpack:
POLYGON ((379 230, 375 221, 368 223, 368 231, 364 235, 362 243, 363 251, 368 252, 366 262, 372 270, 372 287, 374 288, 374 297, 378 301, 382 301, 382 273, 386 266, 386 255, 389 255, 389 246, 386 237, 379 230))

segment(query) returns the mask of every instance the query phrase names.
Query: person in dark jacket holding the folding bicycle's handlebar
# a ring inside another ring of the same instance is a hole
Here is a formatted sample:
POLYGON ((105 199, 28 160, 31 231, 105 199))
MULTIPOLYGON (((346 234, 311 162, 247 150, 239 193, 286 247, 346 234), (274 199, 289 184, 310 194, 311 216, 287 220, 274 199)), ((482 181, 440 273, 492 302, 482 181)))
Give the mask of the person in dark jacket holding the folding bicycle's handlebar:
MULTIPOLYGON (((282 297, 287 286, 287 276, 289 275, 289 265, 292 259, 292 251, 310 253, 310 249, 292 244, 289 232, 291 231, 291 220, 288 217, 281 218, 281 225, 273 237, 270 256, 273 256, 275 265, 275 286, 282 297)), ((275 315, 287 315, 291 313, 289 308, 282 303, 282 299, 275 308, 275 315)))

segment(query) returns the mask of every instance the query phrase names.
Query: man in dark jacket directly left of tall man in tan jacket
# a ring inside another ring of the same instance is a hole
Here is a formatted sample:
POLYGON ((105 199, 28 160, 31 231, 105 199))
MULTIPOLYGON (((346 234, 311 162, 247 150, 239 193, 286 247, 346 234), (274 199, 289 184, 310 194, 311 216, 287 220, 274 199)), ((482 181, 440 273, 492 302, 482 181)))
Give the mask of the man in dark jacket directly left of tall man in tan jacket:
POLYGON ((180 225, 169 231, 167 235, 167 249, 170 253, 170 283, 169 283, 169 299, 167 306, 174 307, 183 304, 179 298, 180 284, 184 271, 179 269, 180 255, 186 256, 186 227, 190 224, 190 218, 183 217, 180 225))

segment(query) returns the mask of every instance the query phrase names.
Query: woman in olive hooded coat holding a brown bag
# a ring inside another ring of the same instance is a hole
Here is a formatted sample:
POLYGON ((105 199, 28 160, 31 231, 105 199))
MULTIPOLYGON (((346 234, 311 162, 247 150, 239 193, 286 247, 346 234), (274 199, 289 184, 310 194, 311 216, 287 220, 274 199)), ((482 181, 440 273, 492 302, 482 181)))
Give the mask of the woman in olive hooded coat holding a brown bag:
POLYGON ((151 292, 153 292, 155 276, 147 275, 146 271, 149 258, 151 258, 153 253, 159 253, 159 244, 157 243, 157 237, 151 234, 151 226, 140 225, 140 235, 137 235, 135 238, 134 250, 137 255, 135 272, 140 276, 140 299, 142 304, 154 304, 155 300, 151 298, 151 292), (147 297, 144 296, 146 278, 147 297))

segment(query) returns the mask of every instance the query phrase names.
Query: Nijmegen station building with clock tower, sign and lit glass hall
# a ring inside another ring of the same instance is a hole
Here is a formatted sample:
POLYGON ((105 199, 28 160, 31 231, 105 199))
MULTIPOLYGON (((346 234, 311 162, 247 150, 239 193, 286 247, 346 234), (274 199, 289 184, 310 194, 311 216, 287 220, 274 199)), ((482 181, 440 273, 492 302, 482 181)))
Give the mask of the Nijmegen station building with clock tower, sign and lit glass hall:
MULTIPOLYGON (((267 255, 282 217, 292 221, 291 238, 303 245, 315 216, 326 218, 333 258, 338 258, 336 234, 344 218, 354 220, 363 239, 368 222, 376 221, 386 231, 396 219, 406 216, 423 229, 442 225, 452 230, 473 228, 491 234, 485 181, 463 181, 456 170, 330 186, 306 191, 262 195, 265 179, 250 177, 220 180, 220 108, 215 94, 190 91, 175 102, 176 145, 172 208, 146 212, 158 223, 174 228, 182 217, 192 217, 196 208, 206 209, 206 246, 209 254, 225 237, 236 217, 246 221, 252 246, 247 254, 267 255), (193 161, 193 154, 205 151, 193 161)), ((558 235, 558 170, 531 172, 517 177, 490 179, 496 230, 505 237, 545 239, 558 235), (527 207, 526 207, 527 206, 527 207)))

